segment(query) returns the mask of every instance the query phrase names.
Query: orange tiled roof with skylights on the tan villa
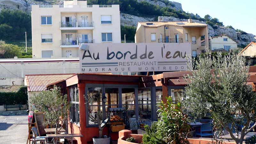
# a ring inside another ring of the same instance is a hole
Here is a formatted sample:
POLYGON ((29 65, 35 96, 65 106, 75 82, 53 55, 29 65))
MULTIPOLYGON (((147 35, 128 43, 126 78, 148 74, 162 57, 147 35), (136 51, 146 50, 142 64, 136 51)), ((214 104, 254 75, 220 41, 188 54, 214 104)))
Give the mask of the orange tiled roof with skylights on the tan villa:
POLYGON ((148 22, 139 22, 144 27, 160 27, 160 26, 179 26, 179 27, 206 27, 207 24, 197 23, 197 22, 188 22, 188 21, 148 21, 148 22))

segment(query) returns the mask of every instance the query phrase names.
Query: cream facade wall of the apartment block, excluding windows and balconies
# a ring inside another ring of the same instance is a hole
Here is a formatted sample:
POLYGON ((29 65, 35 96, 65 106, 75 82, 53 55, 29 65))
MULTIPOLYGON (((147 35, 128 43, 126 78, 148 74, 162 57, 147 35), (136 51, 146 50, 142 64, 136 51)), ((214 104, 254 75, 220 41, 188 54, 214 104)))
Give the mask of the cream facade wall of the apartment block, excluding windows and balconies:
MULTIPOLYGON (((112 5, 112 7, 100 7, 93 5, 87 7, 86 1, 64 1, 64 6, 53 5, 50 8, 39 8, 39 5, 32 5, 31 19, 32 19, 32 52, 33 57, 41 58, 42 50, 53 50, 53 57, 66 57, 66 50, 60 47, 60 40, 65 39, 61 37, 60 22, 62 16, 75 16, 79 22, 82 15, 88 16, 88 22, 93 22, 93 28, 70 28, 68 30, 77 30, 77 33, 84 33, 82 29, 92 29, 92 39, 94 43, 101 43, 101 33, 111 32, 113 36, 113 43, 121 43, 121 29, 120 29, 120 10, 119 5, 112 5), (111 15, 112 24, 101 24, 101 15, 111 15), (52 16, 52 25, 41 25, 41 16, 52 16), (41 34, 53 34, 52 43, 41 43, 41 34), (63 52, 64 51, 64 52, 63 52)), ((70 50, 73 57, 77 57, 77 47, 72 47, 70 50)))

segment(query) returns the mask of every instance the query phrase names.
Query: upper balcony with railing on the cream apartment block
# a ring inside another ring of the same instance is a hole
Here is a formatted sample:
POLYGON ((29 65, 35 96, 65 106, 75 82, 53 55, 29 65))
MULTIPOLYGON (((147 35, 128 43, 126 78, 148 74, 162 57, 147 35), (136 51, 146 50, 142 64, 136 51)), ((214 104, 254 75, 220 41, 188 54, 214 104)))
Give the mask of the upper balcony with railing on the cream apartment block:
POLYGON ((93 22, 60 22, 60 30, 94 29, 93 22))

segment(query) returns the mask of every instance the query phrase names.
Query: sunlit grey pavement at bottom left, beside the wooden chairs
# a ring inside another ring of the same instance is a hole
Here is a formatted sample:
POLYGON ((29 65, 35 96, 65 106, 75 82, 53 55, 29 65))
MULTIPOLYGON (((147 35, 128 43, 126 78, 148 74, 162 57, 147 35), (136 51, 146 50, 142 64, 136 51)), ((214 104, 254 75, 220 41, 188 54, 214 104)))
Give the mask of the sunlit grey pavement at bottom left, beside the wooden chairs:
POLYGON ((0 144, 26 144, 28 115, 0 116, 0 144))

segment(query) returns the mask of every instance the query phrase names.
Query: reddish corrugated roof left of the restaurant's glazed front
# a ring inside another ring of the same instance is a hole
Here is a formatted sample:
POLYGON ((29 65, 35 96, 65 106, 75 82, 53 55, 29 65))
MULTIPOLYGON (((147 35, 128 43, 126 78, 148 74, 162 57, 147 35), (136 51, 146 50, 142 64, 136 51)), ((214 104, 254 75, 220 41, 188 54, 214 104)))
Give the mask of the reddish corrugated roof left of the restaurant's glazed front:
POLYGON ((45 91, 48 84, 52 84, 75 74, 43 74, 43 75, 26 75, 25 84, 28 86, 28 92, 45 91))

